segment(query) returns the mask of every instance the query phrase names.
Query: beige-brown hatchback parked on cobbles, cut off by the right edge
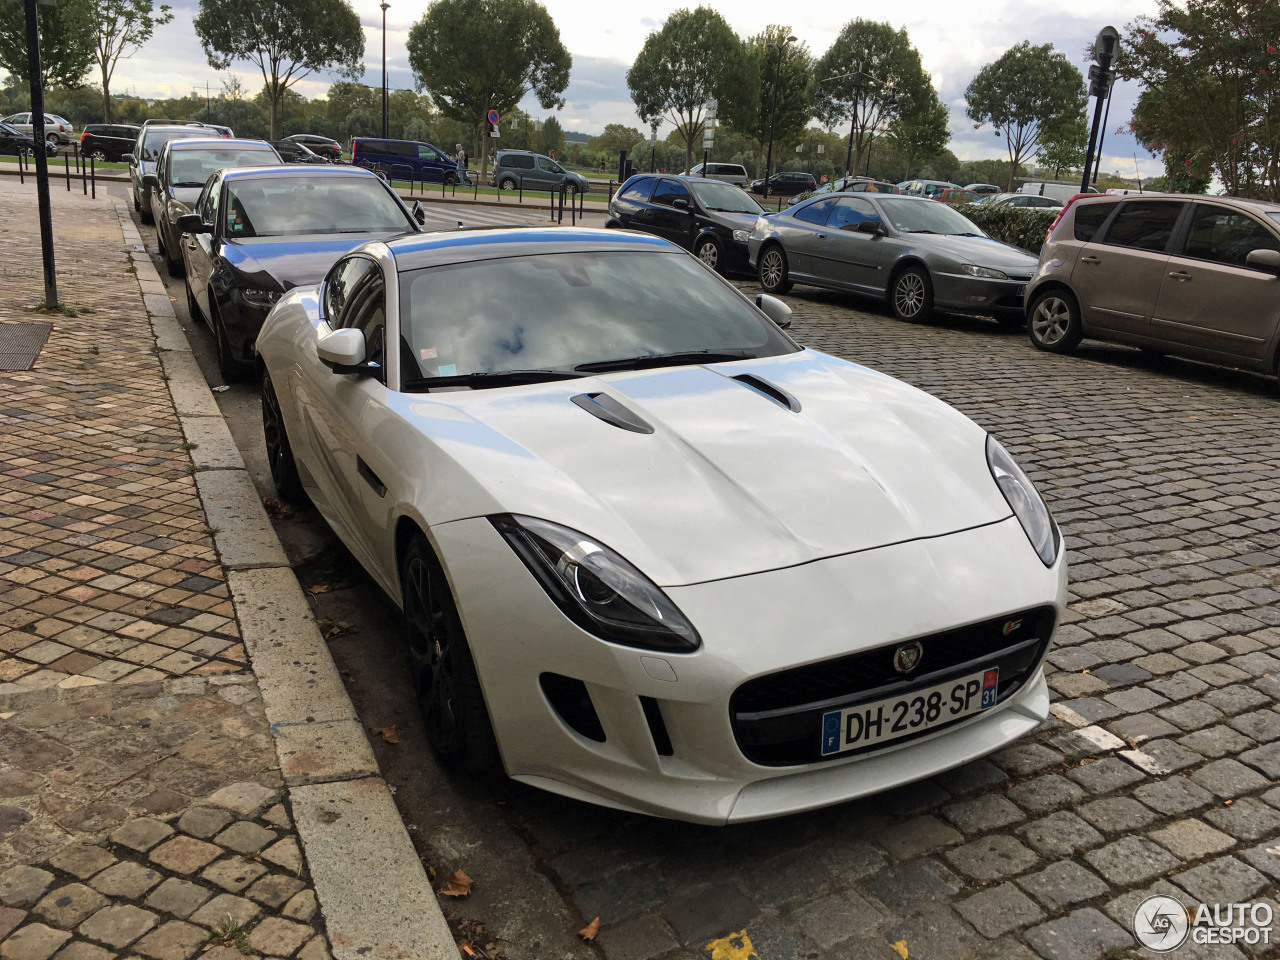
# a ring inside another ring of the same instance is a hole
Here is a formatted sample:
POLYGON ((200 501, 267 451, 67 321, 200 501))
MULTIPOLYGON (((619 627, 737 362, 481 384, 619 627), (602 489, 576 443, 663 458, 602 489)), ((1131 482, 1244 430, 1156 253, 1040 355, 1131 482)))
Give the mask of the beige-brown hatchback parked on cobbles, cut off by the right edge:
POLYGON ((1032 343, 1084 337, 1276 374, 1280 204, 1184 195, 1079 197, 1027 284, 1032 343))

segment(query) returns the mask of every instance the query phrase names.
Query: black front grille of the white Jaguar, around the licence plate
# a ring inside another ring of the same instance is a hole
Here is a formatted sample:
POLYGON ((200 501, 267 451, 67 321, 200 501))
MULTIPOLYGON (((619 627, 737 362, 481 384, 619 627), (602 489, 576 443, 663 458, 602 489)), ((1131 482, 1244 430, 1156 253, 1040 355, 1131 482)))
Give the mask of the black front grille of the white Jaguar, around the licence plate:
MULTIPOLYGON (((822 714, 859 703, 900 696, 913 690, 998 667, 997 703, 1030 680, 1053 634, 1052 607, 1037 607, 996 620, 914 637, 922 655, 916 668, 900 673, 893 654, 908 640, 804 667, 769 673, 742 684, 730 698, 730 722, 739 749, 753 763, 783 767, 850 756, 933 733, 931 727, 863 750, 820 754, 822 714)), ((965 718, 961 718, 965 719, 965 718)), ((960 721, 956 721, 960 722, 960 721)))

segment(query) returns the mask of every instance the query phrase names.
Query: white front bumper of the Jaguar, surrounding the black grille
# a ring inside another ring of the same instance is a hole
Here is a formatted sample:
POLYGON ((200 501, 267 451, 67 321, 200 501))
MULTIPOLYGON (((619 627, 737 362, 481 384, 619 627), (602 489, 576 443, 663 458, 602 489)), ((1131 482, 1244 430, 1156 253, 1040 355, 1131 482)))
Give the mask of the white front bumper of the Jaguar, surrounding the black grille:
MULTIPOLYGON (((433 527, 507 773, 623 810, 728 823, 799 813, 982 756, 1044 718, 1039 663, 996 707, 909 742, 817 763, 762 765, 739 748, 730 699, 749 680, 1048 605, 1046 570, 1018 520, 745 577, 664 588, 698 627, 692 654, 604 643, 572 625, 484 518, 433 527), (492 585, 504 584, 500 595, 492 585), (575 731, 539 677, 580 681, 604 740, 575 731), (662 736, 653 713, 660 716, 662 736)), ((858 698, 854 698, 858 699, 858 698)))

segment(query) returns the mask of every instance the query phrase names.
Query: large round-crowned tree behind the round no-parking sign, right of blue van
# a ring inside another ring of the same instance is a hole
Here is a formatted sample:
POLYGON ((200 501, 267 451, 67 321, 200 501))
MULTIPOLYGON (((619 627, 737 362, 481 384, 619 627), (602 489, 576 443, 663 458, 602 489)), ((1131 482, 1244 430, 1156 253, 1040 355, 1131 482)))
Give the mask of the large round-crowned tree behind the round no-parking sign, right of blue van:
POLYGON ((440 110, 475 131, 484 179, 488 113, 512 110, 529 91, 544 110, 564 106, 573 58, 538 0, 435 0, 408 32, 408 64, 440 110))

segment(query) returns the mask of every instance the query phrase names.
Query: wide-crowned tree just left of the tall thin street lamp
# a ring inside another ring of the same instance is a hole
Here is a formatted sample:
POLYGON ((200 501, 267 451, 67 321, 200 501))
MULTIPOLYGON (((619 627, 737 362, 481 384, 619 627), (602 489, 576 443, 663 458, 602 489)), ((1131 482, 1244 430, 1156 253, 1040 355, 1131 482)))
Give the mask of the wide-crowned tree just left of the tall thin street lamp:
POLYGON ((365 32, 346 0, 200 0, 196 36, 209 65, 248 60, 271 101, 271 140, 280 136, 284 91, 317 70, 356 79, 365 72, 365 32))

